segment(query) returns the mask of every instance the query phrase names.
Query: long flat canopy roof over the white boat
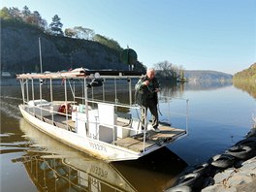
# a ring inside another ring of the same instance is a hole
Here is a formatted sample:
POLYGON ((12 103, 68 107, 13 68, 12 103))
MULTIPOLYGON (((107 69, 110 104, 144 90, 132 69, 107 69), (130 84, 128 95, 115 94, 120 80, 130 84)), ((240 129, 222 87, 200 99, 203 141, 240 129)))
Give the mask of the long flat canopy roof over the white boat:
POLYGON ((111 71, 111 70, 86 70, 84 68, 78 68, 68 72, 47 72, 44 74, 17 74, 16 79, 136 79, 140 78, 143 72, 137 71, 111 71))

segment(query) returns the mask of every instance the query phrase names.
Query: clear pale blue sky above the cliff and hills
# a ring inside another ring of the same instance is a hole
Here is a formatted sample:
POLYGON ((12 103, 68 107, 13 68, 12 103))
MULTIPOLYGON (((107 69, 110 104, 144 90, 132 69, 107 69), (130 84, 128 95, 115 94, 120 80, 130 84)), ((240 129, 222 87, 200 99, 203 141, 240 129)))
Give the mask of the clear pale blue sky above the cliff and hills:
MULTIPOLYGON (((133 48, 147 67, 235 74, 256 62, 256 0, 1 0, 27 6, 62 30, 82 26, 133 48)), ((84 66, 86 67, 86 66, 84 66)))

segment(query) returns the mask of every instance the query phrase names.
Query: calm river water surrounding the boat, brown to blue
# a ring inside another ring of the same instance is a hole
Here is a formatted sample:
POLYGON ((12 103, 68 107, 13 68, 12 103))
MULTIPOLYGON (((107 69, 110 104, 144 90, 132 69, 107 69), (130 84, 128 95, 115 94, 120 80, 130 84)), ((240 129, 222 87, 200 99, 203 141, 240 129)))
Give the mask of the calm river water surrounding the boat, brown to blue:
POLYGON ((189 135, 142 159, 109 164, 34 129, 17 109, 19 86, 1 86, 1 191, 163 191, 187 167, 239 142, 256 115, 255 98, 230 83, 163 84, 161 94, 189 99, 189 135))

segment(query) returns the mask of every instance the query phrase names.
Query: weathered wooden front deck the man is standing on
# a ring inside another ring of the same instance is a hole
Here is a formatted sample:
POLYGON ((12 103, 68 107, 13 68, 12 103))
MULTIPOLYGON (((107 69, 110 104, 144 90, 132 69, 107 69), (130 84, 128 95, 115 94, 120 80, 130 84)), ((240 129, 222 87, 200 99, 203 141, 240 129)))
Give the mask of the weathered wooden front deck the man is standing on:
POLYGON ((149 130, 145 133, 145 143, 144 143, 144 133, 134 135, 132 137, 127 137, 116 141, 114 144, 126 147, 128 149, 134 150, 136 152, 142 152, 147 148, 157 144, 162 145, 165 143, 171 143, 176 140, 176 138, 186 134, 185 130, 177 129, 169 126, 160 126, 160 132, 157 133, 153 130, 149 130))

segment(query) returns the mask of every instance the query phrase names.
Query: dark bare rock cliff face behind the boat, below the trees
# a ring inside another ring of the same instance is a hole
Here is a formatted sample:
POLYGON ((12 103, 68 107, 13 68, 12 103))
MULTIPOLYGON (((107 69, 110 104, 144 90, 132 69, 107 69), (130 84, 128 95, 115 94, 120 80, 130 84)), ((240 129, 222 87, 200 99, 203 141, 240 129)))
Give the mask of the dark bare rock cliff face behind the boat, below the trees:
POLYGON ((50 36, 23 23, 1 20, 1 69, 13 73, 40 72, 39 38, 43 71, 88 69, 125 70, 119 52, 86 40, 50 36))

